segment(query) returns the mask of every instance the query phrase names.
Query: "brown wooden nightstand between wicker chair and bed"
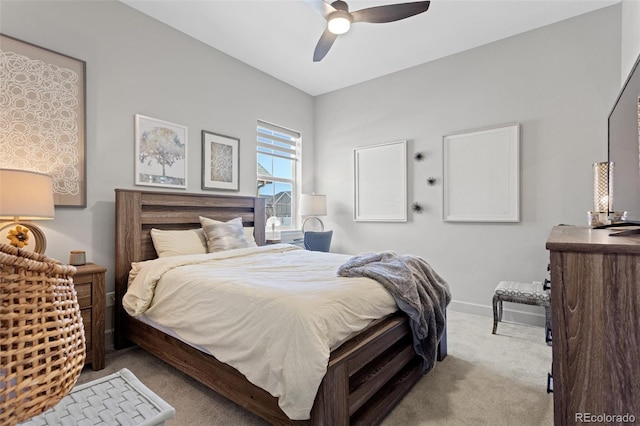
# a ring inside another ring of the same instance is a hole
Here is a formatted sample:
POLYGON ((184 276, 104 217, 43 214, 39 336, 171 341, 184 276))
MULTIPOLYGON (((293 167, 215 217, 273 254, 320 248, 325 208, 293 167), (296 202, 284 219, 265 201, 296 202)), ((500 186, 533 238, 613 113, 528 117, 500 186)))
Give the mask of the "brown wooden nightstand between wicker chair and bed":
POLYGON ((87 263, 76 266, 73 284, 78 293, 78 304, 84 323, 84 338, 87 347, 85 364, 91 363, 94 370, 104 368, 104 273, 100 265, 87 263))

